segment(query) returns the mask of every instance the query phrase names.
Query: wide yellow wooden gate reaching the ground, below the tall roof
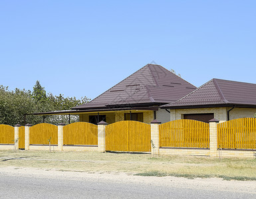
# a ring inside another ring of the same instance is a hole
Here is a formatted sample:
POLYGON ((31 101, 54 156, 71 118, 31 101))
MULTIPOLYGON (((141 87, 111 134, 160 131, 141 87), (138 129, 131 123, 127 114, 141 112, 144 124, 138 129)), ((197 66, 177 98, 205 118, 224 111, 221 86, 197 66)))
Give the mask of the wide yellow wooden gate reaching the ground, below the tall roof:
POLYGON ((106 126, 106 151, 150 152, 150 125, 118 121, 106 126))

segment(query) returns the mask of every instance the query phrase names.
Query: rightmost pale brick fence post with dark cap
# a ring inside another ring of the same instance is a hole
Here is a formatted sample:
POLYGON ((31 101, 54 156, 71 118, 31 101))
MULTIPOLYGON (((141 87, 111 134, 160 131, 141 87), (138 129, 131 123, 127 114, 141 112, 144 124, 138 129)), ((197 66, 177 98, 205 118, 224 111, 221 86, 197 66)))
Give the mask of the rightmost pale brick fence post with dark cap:
POLYGON ((217 123, 219 120, 209 120, 209 152, 211 157, 217 157, 218 145, 217 145, 217 123))

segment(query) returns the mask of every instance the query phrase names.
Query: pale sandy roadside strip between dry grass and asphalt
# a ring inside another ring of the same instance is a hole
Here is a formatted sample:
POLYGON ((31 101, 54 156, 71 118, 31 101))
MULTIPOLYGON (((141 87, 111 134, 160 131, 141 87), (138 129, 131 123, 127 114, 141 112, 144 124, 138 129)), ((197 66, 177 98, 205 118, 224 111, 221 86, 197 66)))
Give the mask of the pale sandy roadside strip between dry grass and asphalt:
POLYGON ((172 186, 199 190, 226 190, 231 192, 247 192, 256 194, 256 181, 222 180, 220 178, 177 178, 173 176, 134 176, 124 172, 70 172, 61 170, 46 170, 39 168, 23 168, 6 166, 0 168, 0 175, 30 176, 33 178, 60 178, 69 180, 114 181, 127 184, 152 184, 155 186, 172 186))

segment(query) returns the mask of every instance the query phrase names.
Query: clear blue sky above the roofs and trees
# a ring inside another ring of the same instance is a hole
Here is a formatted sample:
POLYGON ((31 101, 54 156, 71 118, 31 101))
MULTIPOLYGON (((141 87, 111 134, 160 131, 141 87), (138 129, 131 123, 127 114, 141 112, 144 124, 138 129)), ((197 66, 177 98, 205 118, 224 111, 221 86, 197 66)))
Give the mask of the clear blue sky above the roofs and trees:
POLYGON ((0 1, 0 85, 95 98, 156 62, 256 84, 256 1, 0 1))

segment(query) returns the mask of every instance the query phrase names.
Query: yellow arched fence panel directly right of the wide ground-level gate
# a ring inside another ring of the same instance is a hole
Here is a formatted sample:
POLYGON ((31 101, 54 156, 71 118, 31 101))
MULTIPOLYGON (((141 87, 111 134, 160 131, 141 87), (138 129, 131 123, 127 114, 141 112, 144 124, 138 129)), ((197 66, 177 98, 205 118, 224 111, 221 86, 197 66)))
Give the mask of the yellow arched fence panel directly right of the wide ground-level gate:
POLYGON ((160 147, 209 148, 209 124, 179 119, 159 125, 160 147))

